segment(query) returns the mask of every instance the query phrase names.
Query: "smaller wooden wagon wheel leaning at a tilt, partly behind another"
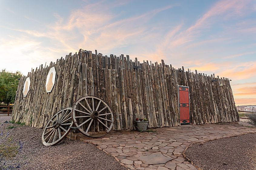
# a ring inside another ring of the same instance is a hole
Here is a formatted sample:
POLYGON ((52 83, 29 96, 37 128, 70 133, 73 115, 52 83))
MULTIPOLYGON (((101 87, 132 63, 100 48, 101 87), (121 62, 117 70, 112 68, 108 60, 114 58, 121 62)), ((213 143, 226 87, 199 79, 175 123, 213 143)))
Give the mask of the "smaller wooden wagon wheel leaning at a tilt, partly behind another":
POLYGON ((72 108, 67 107, 58 111, 46 123, 42 133, 42 143, 45 146, 52 146, 60 143, 71 131, 73 121, 71 119, 72 108))

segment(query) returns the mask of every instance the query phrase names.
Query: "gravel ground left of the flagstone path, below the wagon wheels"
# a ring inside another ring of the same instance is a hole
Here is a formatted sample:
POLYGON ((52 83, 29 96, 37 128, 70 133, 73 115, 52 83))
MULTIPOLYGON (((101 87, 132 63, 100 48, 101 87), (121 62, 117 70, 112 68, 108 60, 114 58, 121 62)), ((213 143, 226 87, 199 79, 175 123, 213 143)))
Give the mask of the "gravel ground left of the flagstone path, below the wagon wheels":
MULTIPOLYGON (((97 169, 125 170, 114 157, 81 141, 64 139, 56 146, 43 146, 42 129, 4 123, 10 117, 0 117, 0 146, 11 146, 17 153, 15 157, 1 155, 0 169, 97 169), (15 126, 13 129, 7 127, 15 126)), ((1 147, 0 147, 1 149, 1 147)), ((11 154, 12 152, 8 152, 11 154)))

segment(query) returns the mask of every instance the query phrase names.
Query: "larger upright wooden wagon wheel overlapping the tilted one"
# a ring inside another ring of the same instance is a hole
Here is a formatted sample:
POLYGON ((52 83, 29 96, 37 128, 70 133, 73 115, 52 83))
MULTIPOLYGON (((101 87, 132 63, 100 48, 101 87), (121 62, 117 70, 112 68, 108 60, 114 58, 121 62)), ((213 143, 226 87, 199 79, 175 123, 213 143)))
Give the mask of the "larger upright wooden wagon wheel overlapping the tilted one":
POLYGON ((105 136, 114 123, 108 104, 95 96, 78 99, 72 109, 72 119, 78 130, 88 137, 105 136))

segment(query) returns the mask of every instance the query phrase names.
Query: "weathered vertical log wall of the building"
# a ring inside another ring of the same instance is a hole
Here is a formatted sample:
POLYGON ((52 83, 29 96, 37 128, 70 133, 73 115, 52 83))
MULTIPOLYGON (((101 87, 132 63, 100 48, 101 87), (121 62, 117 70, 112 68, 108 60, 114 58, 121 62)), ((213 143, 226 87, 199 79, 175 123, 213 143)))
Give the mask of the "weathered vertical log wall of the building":
POLYGON ((135 118, 147 118, 149 127, 180 125, 178 85, 188 86, 191 123, 238 121, 238 112, 228 79, 174 69, 158 63, 135 62, 129 56, 110 57, 79 50, 50 66, 41 65, 20 79, 12 120, 42 128, 54 113, 72 107, 86 95, 95 95, 111 107, 114 130, 135 129, 135 118), (48 71, 55 66, 52 92, 46 93, 48 71), (22 90, 26 77, 31 85, 27 97, 22 90), (217 80, 212 82, 212 80, 217 80), (221 86, 223 84, 223 86, 221 86))

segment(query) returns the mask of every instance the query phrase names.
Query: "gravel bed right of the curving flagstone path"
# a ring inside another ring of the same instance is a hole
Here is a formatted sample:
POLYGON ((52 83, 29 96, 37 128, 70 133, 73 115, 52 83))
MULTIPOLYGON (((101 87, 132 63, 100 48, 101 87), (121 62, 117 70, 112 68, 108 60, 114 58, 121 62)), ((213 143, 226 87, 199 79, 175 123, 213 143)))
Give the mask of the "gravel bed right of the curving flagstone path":
POLYGON ((194 144, 186 156, 204 170, 255 170, 256 133, 194 144))

